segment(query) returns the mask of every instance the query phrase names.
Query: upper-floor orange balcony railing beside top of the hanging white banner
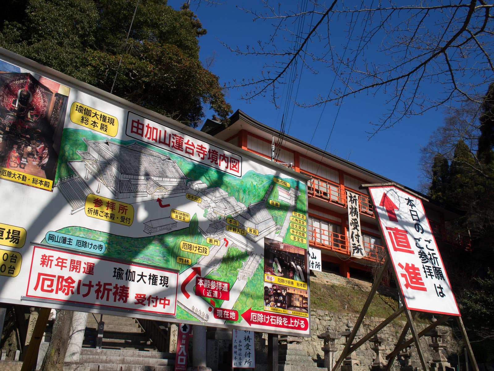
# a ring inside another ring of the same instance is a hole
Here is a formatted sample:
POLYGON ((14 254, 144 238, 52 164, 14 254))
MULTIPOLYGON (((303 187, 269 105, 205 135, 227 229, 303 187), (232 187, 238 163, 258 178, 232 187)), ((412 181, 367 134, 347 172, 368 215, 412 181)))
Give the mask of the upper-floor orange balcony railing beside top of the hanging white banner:
MULTIPOLYGON (((355 191, 352 190, 352 192, 355 191)), ((309 197, 317 197, 332 204, 347 207, 345 187, 340 187, 336 183, 313 178, 307 182, 307 194, 309 197)), ((359 208, 361 213, 369 215, 372 218, 374 217, 371 201, 368 196, 359 194, 359 208)))

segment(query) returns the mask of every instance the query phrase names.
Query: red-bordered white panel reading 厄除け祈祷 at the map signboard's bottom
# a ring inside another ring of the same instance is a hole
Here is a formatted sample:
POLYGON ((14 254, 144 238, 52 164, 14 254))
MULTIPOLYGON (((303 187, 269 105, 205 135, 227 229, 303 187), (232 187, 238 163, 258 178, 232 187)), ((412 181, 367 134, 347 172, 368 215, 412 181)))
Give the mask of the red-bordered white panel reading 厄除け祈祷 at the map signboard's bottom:
POLYGON ((178 273, 34 246, 26 296, 175 315, 178 273))

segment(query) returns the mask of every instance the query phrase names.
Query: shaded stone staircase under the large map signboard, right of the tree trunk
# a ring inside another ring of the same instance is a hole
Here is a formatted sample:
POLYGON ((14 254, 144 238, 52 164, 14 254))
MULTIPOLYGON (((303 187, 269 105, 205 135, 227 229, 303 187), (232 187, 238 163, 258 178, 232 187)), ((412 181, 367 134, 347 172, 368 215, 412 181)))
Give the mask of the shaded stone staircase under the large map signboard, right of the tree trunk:
MULTIPOLYGON (((99 321, 99 315, 96 315, 99 321)), ((135 318, 103 316, 101 349, 96 349, 98 323, 88 314, 79 363, 80 371, 173 371, 175 355, 157 352, 135 318)), ((69 366, 69 365, 65 365, 69 366)), ((65 369, 65 367, 64 367, 65 369)))

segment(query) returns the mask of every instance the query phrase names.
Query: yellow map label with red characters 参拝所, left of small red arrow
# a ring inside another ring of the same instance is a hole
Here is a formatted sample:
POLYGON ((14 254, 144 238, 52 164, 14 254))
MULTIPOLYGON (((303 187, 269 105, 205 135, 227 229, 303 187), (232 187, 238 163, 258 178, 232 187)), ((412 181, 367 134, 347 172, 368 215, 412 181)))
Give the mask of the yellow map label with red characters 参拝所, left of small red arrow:
POLYGON ((124 226, 130 226, 134 221, 134 207, 132 205, 92 193, 86 197, 84 212, 91 218, 124 226))

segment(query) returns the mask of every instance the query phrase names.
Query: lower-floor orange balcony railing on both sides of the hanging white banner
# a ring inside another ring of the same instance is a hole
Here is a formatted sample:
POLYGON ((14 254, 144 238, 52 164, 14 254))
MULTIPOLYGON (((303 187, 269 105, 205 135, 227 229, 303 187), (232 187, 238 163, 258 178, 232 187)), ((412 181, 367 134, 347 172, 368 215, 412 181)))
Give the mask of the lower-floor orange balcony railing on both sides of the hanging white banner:
MULTIPOLYGON (((350 244, 348 238, 344 234, 329 232, 319 227, 311 225, 307 226, 307 233, 309 243, 322 249, 339 252, 350 256, 350 244)), ((384 256, 384 247, 371 244, 369 242, 363 242, 364 251, 367 253, 364 259, 368 259, 374 262, 380 262, 384 256)))

